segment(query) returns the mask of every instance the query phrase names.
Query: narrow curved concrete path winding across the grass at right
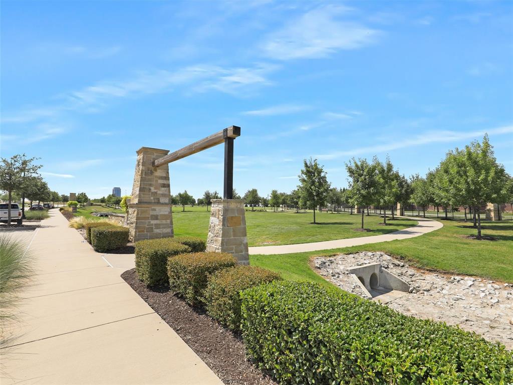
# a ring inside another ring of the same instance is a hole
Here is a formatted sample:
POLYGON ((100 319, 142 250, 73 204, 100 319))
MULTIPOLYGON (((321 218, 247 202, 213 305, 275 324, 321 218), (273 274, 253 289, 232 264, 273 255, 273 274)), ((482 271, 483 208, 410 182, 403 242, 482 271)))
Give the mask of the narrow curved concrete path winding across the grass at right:
MULTIPOLYGON (((405 218, 405 217, 403 217, 405 218)), ((408 217, 409 218, 409 217, 408 217)), ((336 239, 334 241, 312 242, 312 243, 296 243, 293 245, 281 246, 255 246, 249 247, 249 254, 290 254, 290 253, 304 253, 315 252, 319 250, 327 250, 331 248, 350 247, 365 245, 368 243, 379 243, 386 241, 394 241, 397 239, 408 239, 418 237, 420 235, 430 233, 443 227, 443 224, 426 218, 416 218, 419 222, 417 226, 408 227, 397 232, 374 235, 371 237, 347 238, 336 239)))

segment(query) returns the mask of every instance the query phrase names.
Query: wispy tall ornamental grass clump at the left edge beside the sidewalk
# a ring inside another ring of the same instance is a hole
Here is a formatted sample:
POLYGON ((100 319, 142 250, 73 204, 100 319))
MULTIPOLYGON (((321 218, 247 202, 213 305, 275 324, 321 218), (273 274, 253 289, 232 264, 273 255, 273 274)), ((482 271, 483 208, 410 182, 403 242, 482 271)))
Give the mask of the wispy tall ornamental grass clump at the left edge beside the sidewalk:
POLYGON ((0 234, 0 345, 9 339, 5 335, 5 322, 15 318, 17 292, 32 277, 30 261, 22 242, 0 234))

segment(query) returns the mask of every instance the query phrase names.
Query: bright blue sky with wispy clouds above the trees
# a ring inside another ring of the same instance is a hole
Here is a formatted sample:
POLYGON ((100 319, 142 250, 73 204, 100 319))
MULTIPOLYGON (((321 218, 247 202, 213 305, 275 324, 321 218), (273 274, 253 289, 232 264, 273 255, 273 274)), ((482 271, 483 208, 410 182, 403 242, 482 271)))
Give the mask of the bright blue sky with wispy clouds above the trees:
MULTIPOLYGON (((135 151, 230 125, 234 186, 333 186, 351 157, 425 174, 488 132, 513 173, 512 2, 2 2, 2 157, 61 193, 130 194, 135 151)), ((223 188, 223 147, 170 165, 171 193, 223 188)))

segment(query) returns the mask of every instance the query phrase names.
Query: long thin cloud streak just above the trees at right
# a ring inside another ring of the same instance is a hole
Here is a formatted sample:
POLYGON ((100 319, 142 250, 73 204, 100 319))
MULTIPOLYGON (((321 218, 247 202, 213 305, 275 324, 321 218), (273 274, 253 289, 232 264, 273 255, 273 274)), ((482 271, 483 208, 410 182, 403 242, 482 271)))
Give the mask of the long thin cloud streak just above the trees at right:
POLYGON ((330 160, 342 157, 358 156, 363 154, 373 155, 379 152, 398 150, 407 147, 422 146, 430 143, 449 143, 467 139, 475 139, 484 136, 484 134, 486 133, 490 135, 513 133, 513 125, 471 132, 430 131, 424 132, 423 134, 403 141, 389 142, 384 143, 382 145, 377 144, 372 146, 357 147, 347 151, 334 151, 326 154, 316 155, 315 158, 330 160))

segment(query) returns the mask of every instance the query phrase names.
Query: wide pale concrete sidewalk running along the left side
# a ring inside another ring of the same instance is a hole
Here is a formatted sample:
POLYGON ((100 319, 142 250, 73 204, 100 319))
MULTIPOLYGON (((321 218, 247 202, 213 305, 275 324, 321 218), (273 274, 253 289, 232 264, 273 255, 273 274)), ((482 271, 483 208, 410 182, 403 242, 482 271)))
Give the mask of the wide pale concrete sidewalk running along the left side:
POLYGON ((0 351, 3 385, 222 384, 56 210, 34 234, 36 276, 0 351))

